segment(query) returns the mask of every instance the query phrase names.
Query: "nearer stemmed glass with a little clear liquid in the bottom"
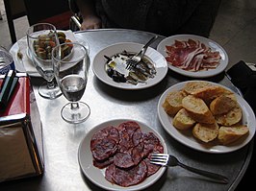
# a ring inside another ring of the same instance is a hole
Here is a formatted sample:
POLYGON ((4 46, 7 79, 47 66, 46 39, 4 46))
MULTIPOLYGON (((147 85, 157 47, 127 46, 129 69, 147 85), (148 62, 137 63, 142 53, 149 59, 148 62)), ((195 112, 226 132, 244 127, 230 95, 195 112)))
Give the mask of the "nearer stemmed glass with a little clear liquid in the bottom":
POLYGON ((90 107, 80 101, 87 81, 90 58, 87 48, 80 43, 66 42, 53 48, 54 74, 64 97, 70 102, 61 111, 63 119, 71 124, 84 122, 90 107))

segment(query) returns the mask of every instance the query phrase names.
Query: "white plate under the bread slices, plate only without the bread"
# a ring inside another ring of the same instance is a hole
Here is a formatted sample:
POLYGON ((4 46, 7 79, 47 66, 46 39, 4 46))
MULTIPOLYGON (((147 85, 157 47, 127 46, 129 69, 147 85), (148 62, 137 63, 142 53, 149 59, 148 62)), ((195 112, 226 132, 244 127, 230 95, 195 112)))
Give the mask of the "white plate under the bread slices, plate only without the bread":
MULTIPOLYGON (((193 81, 190 81, 193 82, 193 81)), ((186 131, 178 131, 176 128, 172 126, 172 117, 169 117, 166 114, 166 111, 162 107, 162 104, 164 103, 166 99, 166 95, 168 92, 175 91, 175 90, 180 90, 184 87, 184 85, 187 82, 175 84, 168 89, 162 94, 160 97, 160 100, 158 102, 158 117, 160 119, 160 122, 164 129, 177 141, 181 142, 182 144, 200 151, 200 152, 205 152, 205 153, 214 153, 214 154, 223 154, 223 153, 229 153, 233 152, 236 150, 241 149, 243 146, 245 146, 254 136, 255 133, 255 127, 256 127, 256 121, 255 121, 255 115, 251 107, 247 104, 247 102, 238 94, 236 94, 238 103, 240 107, 243 109, 243 124, 246 124, 247 127, 249 128, 249 134, 244 136, 245 138, 241 138, 238 141, 228 145, 228 146, 223 146, 223 145, 211 145, 211 144, 203 144, 199 141, 197 141, 191 133, 187 133, 186 131)), ((209 82, 210 83, 210 82, 209 82)), ((214 83, 211 83, 214 84, 214 83)), ((220 84, 217 84, 220 85, 220 84)), ((220 85, 226 89, 229 89, 223 85, 220 85)), ((231 89, 229 89, 232 91, 231 89)))

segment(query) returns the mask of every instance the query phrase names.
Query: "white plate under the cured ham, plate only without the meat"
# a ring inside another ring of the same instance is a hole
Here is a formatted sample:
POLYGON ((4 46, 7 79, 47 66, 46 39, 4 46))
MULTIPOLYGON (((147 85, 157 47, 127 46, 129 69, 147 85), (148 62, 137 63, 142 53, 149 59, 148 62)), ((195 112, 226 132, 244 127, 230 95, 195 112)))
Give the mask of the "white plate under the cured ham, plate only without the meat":
POLYGON ((168 64, 169 69, 173 70, 174 72, 177 72, 179 74, 182 74, 184 76, 189 76, 193 78, 207 78, 212 77, 215 75, 218 75, 220 72, 222 72, 228 64, 228 56, 225 52, 225 50, 218 45, 217 42, 214 40, 211 40, 209 38, 203 37, 203 36, 193 36, 193 35, 177 35, 177 36, 169 36, 163 39, 157 46, 157 50, 166 58, 166 45, 170 46, 174 44, 175 40, 188 40, 189 38, 193 40, 199 40, 200 42, 204 43, 206 46, 210 47, 213 51, 218 51, 221 60, 219 61, 219 65, 216 69, 209 69, 207 71, 198 71, 198 72, 192 72, 192 71, 186 71, 180 68, 177 68, 175 66, 172 66, 171 64, 168 64))

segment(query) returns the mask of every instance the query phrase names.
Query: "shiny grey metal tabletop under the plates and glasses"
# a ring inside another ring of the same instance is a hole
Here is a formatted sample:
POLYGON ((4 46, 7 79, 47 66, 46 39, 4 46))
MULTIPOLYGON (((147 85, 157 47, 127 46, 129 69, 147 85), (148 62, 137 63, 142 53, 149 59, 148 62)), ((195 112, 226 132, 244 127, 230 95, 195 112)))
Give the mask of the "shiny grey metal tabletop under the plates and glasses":
MULTIPOLYGON (((96 30, 76 33, 90 44, 90 60, 102 48, 116 42, 145 43, 154 34, 133 30, 96 30)), ((163 39, 155 41, 156 48, 163 39)), ((61 108, 67 103, 64 96, 46 100, 38 95, 38 78, 32 78, 41 115, 44 143, 44 174, 38 178, 20 179, 0 184, 0 190, 101 190, 87 179, 79 167, 78 148, 85 134, 94 126, 118 118, 136 119, 158 131, 166 140, 167 150, 184 163, 193 167, 213 171, 228 177, 228 184, 220 184, 192 174, 180 167, 166 170, 164 176, 148 190, 234 190, 243 177, 250 160, 253 142, 241 150, 228 154, 206 154, 192 150, 173 139, 160 124, 157 104, 162 93, 182 81, 191 80, 168 71, 166 78, 153 87, 128 91, 101 83, 90 68, 89 82, 82 101, 91 109, 90 118, 79 125, 64 122, 61 108)), ((224 74, 207 79, 237 91, 224 74)))

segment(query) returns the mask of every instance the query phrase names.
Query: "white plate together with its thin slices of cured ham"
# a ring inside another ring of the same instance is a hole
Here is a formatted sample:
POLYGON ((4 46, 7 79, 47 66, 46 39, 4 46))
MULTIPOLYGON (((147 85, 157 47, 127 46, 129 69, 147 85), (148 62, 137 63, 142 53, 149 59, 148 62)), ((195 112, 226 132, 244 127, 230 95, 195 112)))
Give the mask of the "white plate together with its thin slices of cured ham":
POLYGON ((166 58, 169 69, 193 78, 218 75, 228 64, 225 50, 203 36, 169 36, 159 43, 157 50, 166 58))

